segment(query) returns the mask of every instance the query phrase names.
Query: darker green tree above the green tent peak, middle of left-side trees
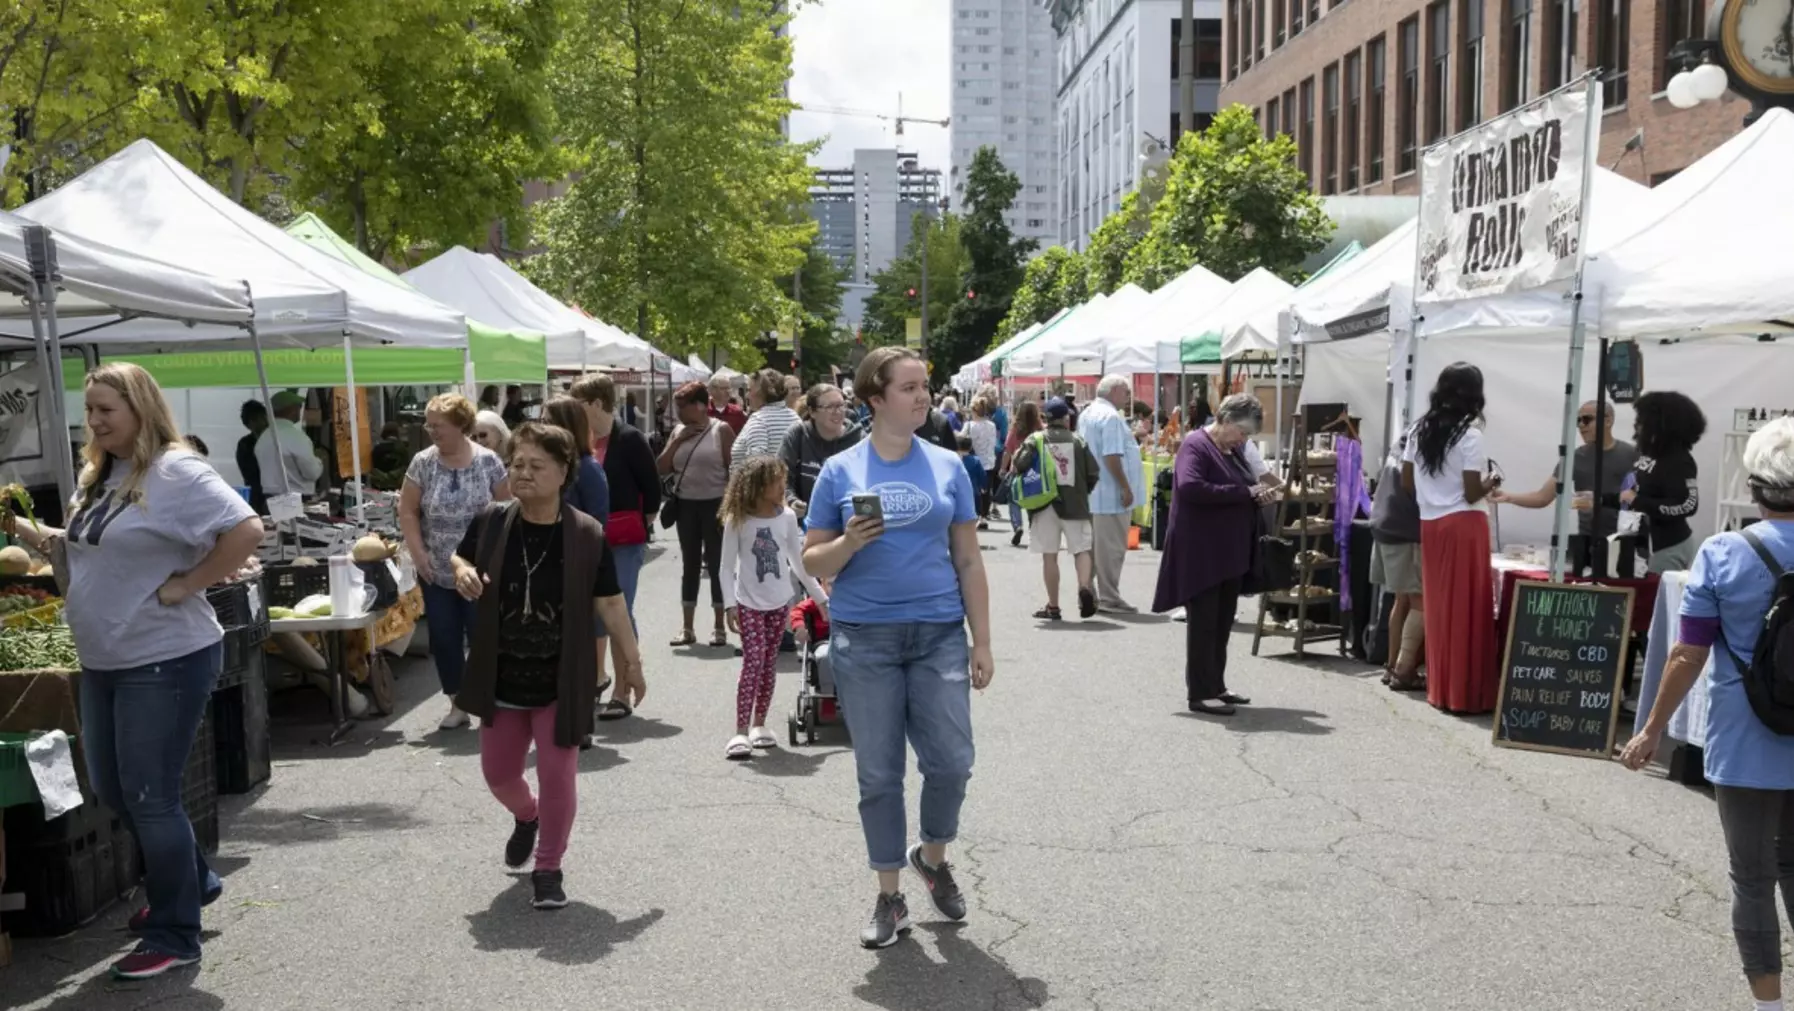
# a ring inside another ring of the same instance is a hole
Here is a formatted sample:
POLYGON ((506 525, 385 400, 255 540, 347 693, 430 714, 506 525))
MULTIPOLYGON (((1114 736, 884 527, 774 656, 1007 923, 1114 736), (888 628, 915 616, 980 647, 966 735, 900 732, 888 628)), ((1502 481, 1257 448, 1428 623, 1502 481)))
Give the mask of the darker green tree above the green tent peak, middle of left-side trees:
POLYGON ((414 4, 402 45, 366 70, 379 127, 318 124, 296 154, 294 197, 377 260, 475 246, 497 219, 527 231, 524 183, 570 167, 547 82, 560 4, 414 4))

